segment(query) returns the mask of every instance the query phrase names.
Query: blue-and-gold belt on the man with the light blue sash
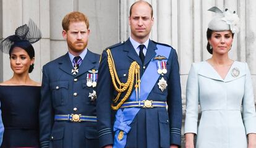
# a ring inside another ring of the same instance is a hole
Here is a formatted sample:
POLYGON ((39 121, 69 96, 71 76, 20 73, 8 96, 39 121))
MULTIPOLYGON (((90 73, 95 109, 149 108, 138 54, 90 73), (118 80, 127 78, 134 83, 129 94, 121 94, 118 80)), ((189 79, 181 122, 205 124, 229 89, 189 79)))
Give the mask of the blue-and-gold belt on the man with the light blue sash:
POLYGON ((153 108, 153 107, 166 107, 166 102, 164 101, 131 101, 131 102, 124 102, 122 108, 127 108, 127 107, 143 107, 143 108, 153 108))

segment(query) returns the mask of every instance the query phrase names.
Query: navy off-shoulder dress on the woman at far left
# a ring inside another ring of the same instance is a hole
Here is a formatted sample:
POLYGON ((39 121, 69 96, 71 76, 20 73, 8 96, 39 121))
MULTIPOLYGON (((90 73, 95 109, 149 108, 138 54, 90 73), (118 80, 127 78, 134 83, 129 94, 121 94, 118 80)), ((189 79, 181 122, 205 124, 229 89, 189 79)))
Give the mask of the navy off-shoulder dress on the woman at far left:
POLYGON ((40 86, 0 86, 1 147, 39 147, 40 86))

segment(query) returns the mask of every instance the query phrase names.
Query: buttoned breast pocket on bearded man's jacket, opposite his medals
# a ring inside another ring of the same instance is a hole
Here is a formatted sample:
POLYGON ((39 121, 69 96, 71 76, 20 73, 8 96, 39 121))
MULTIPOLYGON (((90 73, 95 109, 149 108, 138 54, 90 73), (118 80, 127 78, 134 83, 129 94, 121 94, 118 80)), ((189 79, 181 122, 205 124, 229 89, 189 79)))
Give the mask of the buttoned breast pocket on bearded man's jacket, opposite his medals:
POLYGON ((53 106, 65 105, 68 97, 69 81, 57 81, 50 83, 53 106))

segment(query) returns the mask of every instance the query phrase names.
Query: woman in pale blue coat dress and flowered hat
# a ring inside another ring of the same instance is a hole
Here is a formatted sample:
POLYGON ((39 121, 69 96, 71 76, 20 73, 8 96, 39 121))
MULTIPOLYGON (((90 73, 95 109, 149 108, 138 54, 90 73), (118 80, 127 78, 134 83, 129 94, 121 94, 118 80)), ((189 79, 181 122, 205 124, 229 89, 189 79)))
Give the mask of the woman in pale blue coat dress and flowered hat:
POLYGON ((217 13, 207 30, 207 50, 212 57, 192 64, 189 72, 186 148, 194 147, 195 134, 198 148, 255 148, 256 113, 250 71, 246 63, 228 56, 234 33, 239 31, 239 18, 228 9, 209 10, 217 13), (198 102, 202 117, 197 128, 198 102))

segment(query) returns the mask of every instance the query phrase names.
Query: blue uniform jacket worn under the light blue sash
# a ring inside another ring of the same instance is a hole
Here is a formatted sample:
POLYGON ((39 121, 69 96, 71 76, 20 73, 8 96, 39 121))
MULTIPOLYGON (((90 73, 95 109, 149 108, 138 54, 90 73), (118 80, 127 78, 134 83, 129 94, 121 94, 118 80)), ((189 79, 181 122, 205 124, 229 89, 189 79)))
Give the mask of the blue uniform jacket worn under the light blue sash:
MULTIPOLYGON (((149 41, 143 65, 129 39, 124 43, 109 47, 114 59, 117 75, 122 83, 126 83, 130 64, 134 61, 140 65, 140 73, 145 72, 148 63, 156 56, 157 44, 160 43, 149 41)), ((165 44, 161 45, 168 46, 165 44)), ((169 57, 167 57, 167 73, 158 78, 147 98, 150 101, 167 102, 168 110, 165 107, 141 108, 130 124, 131 130, 127 134, 126 147, 155 148, 169 147, 171 144, 181 145, 182 104, 179 64, 176 51, 171 46, 169 47, 171 52, 169 57), (158 86, 158 81, 162 77, 168 83, 168 88, 163 92, 158 86)), ((98 92, 96 110, 100 147, 104 147, 113 144, 115 134, 113 132, 113 123, 116 112, 111 109, 111 104, 117 96, 117 91, 114 89, 109 73, 108 54, 106 51, 103 51, 101 57, 96 89, 98 92)), ((124 94, 126 93, 121 94, 119 100, 124 97, 124 94)))

